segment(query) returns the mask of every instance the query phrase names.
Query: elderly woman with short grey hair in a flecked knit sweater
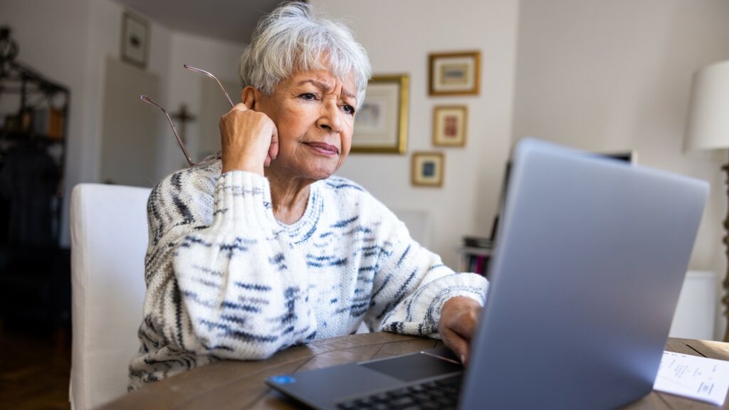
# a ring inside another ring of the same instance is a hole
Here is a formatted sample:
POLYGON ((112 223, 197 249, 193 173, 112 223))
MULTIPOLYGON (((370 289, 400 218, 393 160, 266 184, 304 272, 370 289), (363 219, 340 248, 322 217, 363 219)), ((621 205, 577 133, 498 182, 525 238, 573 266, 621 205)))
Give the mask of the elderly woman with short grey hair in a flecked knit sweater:
POLYGON ((305 4, 268 15, 243 53, 222 160, 149 197, 147 298, 130 389, 219 359, 263 359, 373 330, 440 337, 461 360, 486 294, 410 238, 359 185, 351 147, 370 63, 305 4))

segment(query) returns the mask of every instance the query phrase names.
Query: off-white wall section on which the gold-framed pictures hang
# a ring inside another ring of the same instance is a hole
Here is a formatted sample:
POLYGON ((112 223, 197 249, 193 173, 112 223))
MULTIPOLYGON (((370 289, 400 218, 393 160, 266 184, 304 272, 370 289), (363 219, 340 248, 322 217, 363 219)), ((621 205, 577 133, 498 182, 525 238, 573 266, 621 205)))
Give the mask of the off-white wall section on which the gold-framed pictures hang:
POLYGON ((433 218, 432 250, 457 268, 461 236, 488 236, 510 148, 517 0, 313 0, 316 10, 345 19, 370 55, 374 74, 410 74, 407 155, 351 154, 338 174, 363 185, 391 208, 425 209, 433 218), (428 54, 480 50, 479 96, 429 97, 428 54), (432 109, 469 108, 464 148, 432 146, 432 109), (410 185, 413 151, 445 152, 443 187, 410 185))

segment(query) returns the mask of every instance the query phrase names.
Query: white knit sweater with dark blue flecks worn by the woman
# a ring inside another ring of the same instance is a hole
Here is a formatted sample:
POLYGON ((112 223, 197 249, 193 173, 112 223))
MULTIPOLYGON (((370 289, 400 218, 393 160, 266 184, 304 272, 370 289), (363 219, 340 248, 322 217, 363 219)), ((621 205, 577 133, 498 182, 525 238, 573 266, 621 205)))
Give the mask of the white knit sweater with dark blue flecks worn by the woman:
POLYGON ((130 390, 219 359, 254 360, 313 339, 372 330, 437 338, 453 296, 488 283, 454 274, 362 187, 314 182, 303 217, 273 216, 268 179, 178 171, 149 196, 147 295, 130 390))

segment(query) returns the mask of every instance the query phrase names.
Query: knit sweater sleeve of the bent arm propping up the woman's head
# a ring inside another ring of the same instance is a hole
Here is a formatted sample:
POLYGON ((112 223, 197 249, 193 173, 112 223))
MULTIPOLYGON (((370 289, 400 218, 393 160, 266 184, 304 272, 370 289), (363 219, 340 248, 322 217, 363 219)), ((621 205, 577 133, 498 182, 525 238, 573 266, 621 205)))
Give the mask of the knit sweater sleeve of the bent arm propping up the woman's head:
POLYGON ((222 358, 313 339, 306 264, 273 217, 268 179, 185 175, 150 196, 144 325, 159 344, 222 358))

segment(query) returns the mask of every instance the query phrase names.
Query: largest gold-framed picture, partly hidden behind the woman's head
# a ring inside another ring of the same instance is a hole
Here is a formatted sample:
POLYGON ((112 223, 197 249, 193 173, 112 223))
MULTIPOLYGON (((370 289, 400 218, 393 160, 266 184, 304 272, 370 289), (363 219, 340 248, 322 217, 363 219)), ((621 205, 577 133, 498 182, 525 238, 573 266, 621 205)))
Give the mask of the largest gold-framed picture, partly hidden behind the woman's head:
POLYGON ((405 154, 408 149, 407 74, 374 76, 354 116, 352 152, 405 154))

